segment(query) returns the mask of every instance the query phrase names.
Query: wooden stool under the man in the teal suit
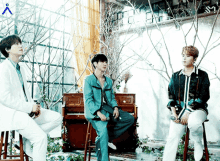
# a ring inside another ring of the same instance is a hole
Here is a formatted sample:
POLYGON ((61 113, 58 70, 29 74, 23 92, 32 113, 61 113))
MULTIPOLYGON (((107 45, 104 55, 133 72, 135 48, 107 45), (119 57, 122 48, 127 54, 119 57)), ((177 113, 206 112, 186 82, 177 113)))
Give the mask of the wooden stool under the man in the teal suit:
MULTIPOLYGON (((84 161, 86 161, 87 151, 89 149, 89 161, 91 159, 91 149, 94 149, 96 146, 92 144, 92 124, 88 121, 87 133, 86 133, 86 142, 85 142, 85 151, 84 151, 84 161)), ((109 158, 110 160, 110 158, 109 158)))

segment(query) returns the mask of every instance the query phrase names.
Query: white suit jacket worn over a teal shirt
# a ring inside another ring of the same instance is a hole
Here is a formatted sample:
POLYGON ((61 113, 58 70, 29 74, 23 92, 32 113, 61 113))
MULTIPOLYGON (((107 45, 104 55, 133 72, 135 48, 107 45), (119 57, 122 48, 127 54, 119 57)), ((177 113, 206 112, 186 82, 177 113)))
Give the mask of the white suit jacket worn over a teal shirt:
POLYGON ((8 59, 0 63, 0 131, 25 128, 28 117, 24 115, 30 113, 34 105, 22 66, 20 70, 28 102, 15 67, 8 59), (20 115, 23 120, 14 119, 15 114, 20 115))

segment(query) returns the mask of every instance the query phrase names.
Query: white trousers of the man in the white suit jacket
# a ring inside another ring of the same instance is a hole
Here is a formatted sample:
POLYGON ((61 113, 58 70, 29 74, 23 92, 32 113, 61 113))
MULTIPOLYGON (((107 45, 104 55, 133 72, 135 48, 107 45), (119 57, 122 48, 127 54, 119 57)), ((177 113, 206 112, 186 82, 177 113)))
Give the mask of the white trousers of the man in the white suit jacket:
POLYGON ((15 113, 13 122, 16 123, 13 126, 23 120, 21 117, 28 117, 27 126, 17 132, 33 145, 33 161, 46 161, 47 134, 62 123, 62 116, 58 112, 46 109, 41 109, 41 115, 36 119, 32 119, 26 113, 22 116, 15 113))

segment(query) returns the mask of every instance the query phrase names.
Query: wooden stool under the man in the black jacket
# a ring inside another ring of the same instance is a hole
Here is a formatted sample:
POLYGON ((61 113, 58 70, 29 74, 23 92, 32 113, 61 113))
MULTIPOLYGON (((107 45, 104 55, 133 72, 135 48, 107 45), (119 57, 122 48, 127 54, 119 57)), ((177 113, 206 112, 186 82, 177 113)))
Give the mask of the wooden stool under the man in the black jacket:
MULTIPOLYGON (((208 121, 209 120, 205 120, 204 122, 208 122, 208 121)), ((206 156, 206 161, 209 161, 209 152, 208 152, 208 147, 207 147, 207 140, 206 140, 204 122, 202 123, 202 126, 203 126, 203 141, 204 141, 204 148, 205 148, 204 154, 206 156)), ((185 147, 184 147, 184 153, 183 153, 183 161, 187 160, 188 145, 189 145, 189 128, 187 127, 186 136, 185 136, 185 147)))

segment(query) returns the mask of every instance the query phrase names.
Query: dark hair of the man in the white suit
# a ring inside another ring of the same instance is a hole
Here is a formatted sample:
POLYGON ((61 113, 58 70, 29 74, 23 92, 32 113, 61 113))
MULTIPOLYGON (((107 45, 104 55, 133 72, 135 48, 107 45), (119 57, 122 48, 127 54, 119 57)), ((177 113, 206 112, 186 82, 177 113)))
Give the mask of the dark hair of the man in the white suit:
POLYGON ((21 43, 20 37, 17 35, 10 35, 0 41, 0 51, 7 58, 9 56, 8 52, 5 50, 10 50, 11 46, 17 43, 21 43))

